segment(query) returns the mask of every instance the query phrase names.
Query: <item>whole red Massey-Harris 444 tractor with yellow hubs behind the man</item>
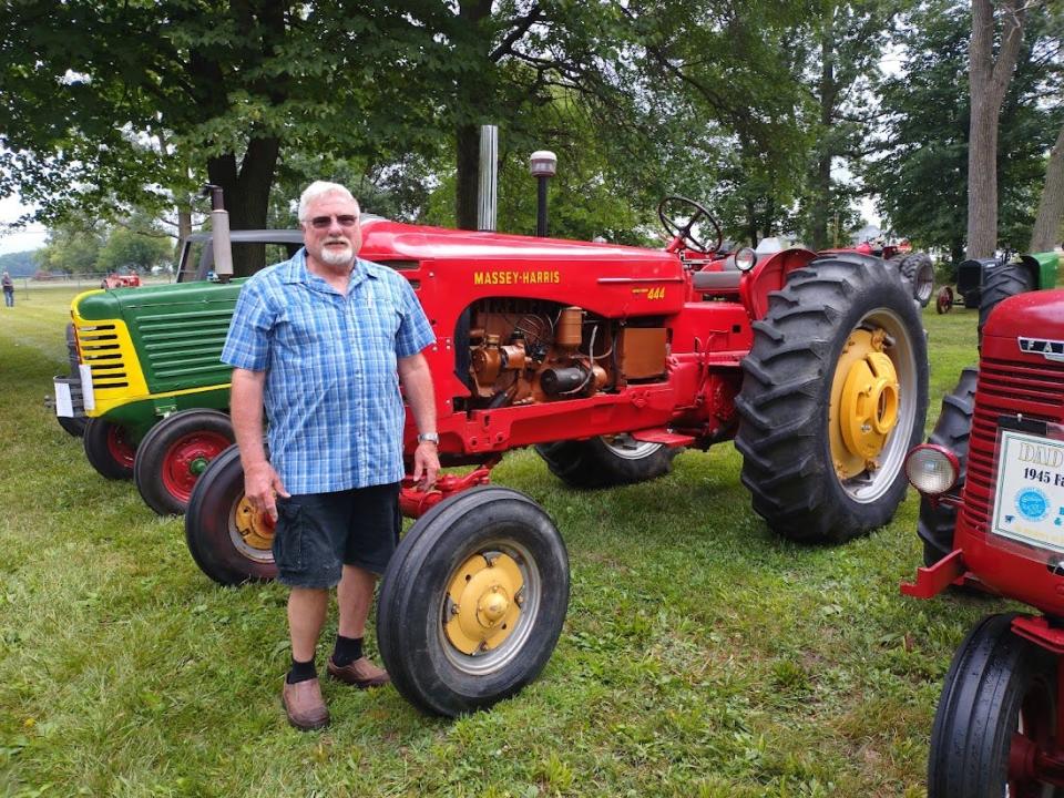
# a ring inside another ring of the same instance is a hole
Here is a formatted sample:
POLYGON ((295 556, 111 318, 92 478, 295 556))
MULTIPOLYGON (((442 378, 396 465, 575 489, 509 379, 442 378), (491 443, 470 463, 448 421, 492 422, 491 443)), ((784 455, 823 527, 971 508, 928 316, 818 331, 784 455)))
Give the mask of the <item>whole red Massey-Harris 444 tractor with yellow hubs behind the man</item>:
MULTIPOLYGON (((671 197, 664 250, 396 224, 360 255, 410 280, 436 331, 440 454, 432 492, 383 575, 377 617, 397 688, 457 715, 513 695, 545 665, 569 601, 548 514, 490 469, 535 447, 573 487, 646 480, 681 447, 735 439, 754 508, 779 534, 841 542, 884 524, 921 434, 923 330, 896 269, 856 253, 716 256, 702 206, 671 197), (683 213, 681 213, 683 212, 683 213), (676 218, 681 215, 681 218, 676 218)), ((395 387, 387 387, 392 390, 395 387)), ((416 428, 408 418, 405 447, 416 428)), ((193 557, 222 584, 269 579, 274 528, 243 494, 235 448, 185 514, 193 557)))

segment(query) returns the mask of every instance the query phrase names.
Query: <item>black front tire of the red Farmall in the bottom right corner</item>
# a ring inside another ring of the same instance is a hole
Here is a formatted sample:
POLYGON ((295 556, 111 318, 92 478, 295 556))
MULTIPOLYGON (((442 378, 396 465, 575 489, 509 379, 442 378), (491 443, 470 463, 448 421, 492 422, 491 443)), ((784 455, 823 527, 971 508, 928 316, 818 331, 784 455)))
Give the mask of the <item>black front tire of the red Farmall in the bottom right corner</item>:
POLYGON ((1014 617, 983 618, 953 655, 931 729, 928 798, 1064 795, 1048 785, 1006 784, 1016 738, 1055 737, 1058 698, 1053 656, 1013 634, 1014 617))

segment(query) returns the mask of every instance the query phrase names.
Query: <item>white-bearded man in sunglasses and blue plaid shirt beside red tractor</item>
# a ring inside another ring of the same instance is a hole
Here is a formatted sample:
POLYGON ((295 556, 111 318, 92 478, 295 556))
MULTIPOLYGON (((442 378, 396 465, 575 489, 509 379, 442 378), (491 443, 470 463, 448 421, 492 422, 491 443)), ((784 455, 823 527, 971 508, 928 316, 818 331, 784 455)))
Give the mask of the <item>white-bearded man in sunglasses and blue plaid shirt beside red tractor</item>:
POLYGON ((426 488, 439 459, 421 355, 433 334, 410 284, 356 256, 359 208, 344 186, 308 186, 299 224, 305 247, 241 290, 222 359, 233 366, 245 494, 277 521, 274 560, 290 587, 291 668, 282 699, 294 726, 314 729, 329 723, 315 648, 331 587, 339 630, 329 675, 362 688, 388 682, 362 654, 362 635, 376 579, 399 539, 400 383, 419 432, 413 477, 426 488))

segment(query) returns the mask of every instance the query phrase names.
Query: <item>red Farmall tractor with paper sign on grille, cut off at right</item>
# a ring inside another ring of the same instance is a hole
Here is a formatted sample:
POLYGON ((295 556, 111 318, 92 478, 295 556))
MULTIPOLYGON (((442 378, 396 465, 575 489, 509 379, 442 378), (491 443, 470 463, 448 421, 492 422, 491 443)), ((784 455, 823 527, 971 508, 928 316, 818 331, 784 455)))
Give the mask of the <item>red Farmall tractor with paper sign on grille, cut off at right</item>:
MULTIPOLYGON (((1015 290, 1036 286, 1016 266, 1015 290)), ((929 798, 1064 790, 1064 290, 1001 301, 928 443, 906 469, 921 493, 927 567, 902 592, 978 587, 1042 614, 984 618, 961 643, 931 733, 929 798)))

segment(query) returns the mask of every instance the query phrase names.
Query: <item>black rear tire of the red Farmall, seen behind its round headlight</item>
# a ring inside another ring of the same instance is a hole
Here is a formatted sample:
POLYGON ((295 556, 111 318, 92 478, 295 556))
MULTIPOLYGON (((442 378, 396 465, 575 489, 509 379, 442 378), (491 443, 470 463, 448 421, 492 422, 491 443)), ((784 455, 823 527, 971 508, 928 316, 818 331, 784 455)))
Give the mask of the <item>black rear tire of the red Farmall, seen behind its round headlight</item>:
MULTIPOLYGON (((969 367, 961 371, 956 386, 942 397, 942 411, 934 424, 929 443, 944 447, 956 456, 958 477, 954 491, 964 487, 968 474, 968 440, 972 432, 972 415, 975 410, 975 381, 979 371, 969 367)), ((953 551, 953 528, 956 525, 956 510, 940 503, 932 507, 925 498, 920 498, 920 520, 917 534, 923 541, 923 564, 933 565, 953 551)))

